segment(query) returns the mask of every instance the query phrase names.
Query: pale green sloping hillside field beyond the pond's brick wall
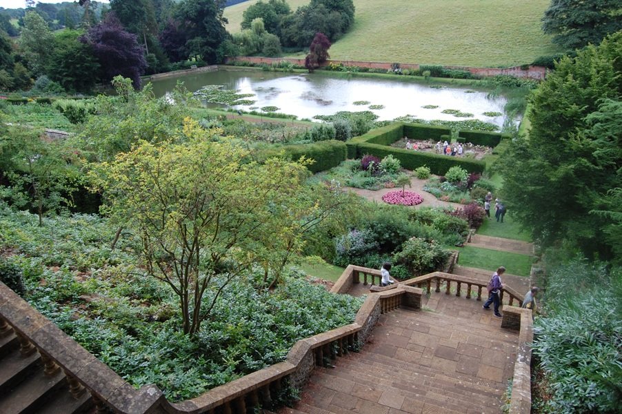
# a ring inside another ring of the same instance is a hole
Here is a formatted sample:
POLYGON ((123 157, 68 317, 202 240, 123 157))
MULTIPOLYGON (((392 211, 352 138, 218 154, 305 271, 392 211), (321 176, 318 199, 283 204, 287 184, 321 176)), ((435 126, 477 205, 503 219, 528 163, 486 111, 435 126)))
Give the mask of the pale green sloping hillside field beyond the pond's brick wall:
MULTIPOLYGON (((257 0, 225 9, 228 30, 257 0)), ((288 0, 292 10, 307 0, 288 0)), ((556 47, 540 19, 550 0, 354 0, 354 26, 332 48, 333 59, 464 66, 514 66, 556 47)))

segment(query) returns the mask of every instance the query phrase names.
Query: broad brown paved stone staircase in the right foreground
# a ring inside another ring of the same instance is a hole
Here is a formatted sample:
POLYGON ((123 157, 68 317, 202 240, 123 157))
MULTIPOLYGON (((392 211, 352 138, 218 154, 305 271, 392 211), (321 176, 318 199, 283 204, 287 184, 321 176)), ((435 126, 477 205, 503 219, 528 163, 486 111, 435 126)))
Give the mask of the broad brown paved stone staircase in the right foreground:
POLYGON ((381 315, 360 353, 317 368, 279 413, 500 413, 518 333, 474 300, 433 293, 424 309, 381 315))

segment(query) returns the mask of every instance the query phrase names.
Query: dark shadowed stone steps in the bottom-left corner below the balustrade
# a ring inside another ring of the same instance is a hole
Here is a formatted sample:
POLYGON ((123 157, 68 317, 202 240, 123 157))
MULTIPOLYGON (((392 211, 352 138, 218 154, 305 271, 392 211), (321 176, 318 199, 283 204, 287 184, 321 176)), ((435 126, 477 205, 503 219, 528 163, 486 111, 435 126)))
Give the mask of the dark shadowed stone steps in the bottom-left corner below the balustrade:
POLYGON ((88 393, 74 398, 65 374, 48 369, 34 348, 12 330, 0 337, 0 413, 72 414, 92 411, 88 393), (51 372, 49 372, 51 371, 51 372))

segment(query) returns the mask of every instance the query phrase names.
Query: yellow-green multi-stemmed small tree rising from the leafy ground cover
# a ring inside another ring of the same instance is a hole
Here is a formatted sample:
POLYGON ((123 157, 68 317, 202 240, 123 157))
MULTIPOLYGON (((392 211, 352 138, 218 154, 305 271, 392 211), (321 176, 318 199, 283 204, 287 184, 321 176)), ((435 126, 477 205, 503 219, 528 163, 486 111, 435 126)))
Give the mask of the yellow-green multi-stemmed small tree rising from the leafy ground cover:
POLYGON ((265 264, 282 240, 300 246, 290 212, 301 210, 308 172, 280 158, 257 164, 194 121, 183 133, 183 144, 142 143, 92 177, 107 200, 103 213, 137 231, 146 269, 172 288, 182 331, 194 335, 228 282, 265 264))

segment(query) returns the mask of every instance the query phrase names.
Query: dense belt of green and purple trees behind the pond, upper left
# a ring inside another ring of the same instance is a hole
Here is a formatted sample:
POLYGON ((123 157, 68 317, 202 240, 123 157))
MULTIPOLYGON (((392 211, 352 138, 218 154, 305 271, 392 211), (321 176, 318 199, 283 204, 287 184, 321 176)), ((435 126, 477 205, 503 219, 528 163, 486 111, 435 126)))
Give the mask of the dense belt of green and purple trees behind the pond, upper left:
POLYGON ((284 0, 259 1, 232 36, 224 7, 225 0, 111 0, 110 7, 81 0, 0 9, 0 90, 90 92, 115 75, 139 86, 145 74, 308 47, 317 32, 334 40, 354 21, 352 0, 312 0, 296 12, 284 0))

